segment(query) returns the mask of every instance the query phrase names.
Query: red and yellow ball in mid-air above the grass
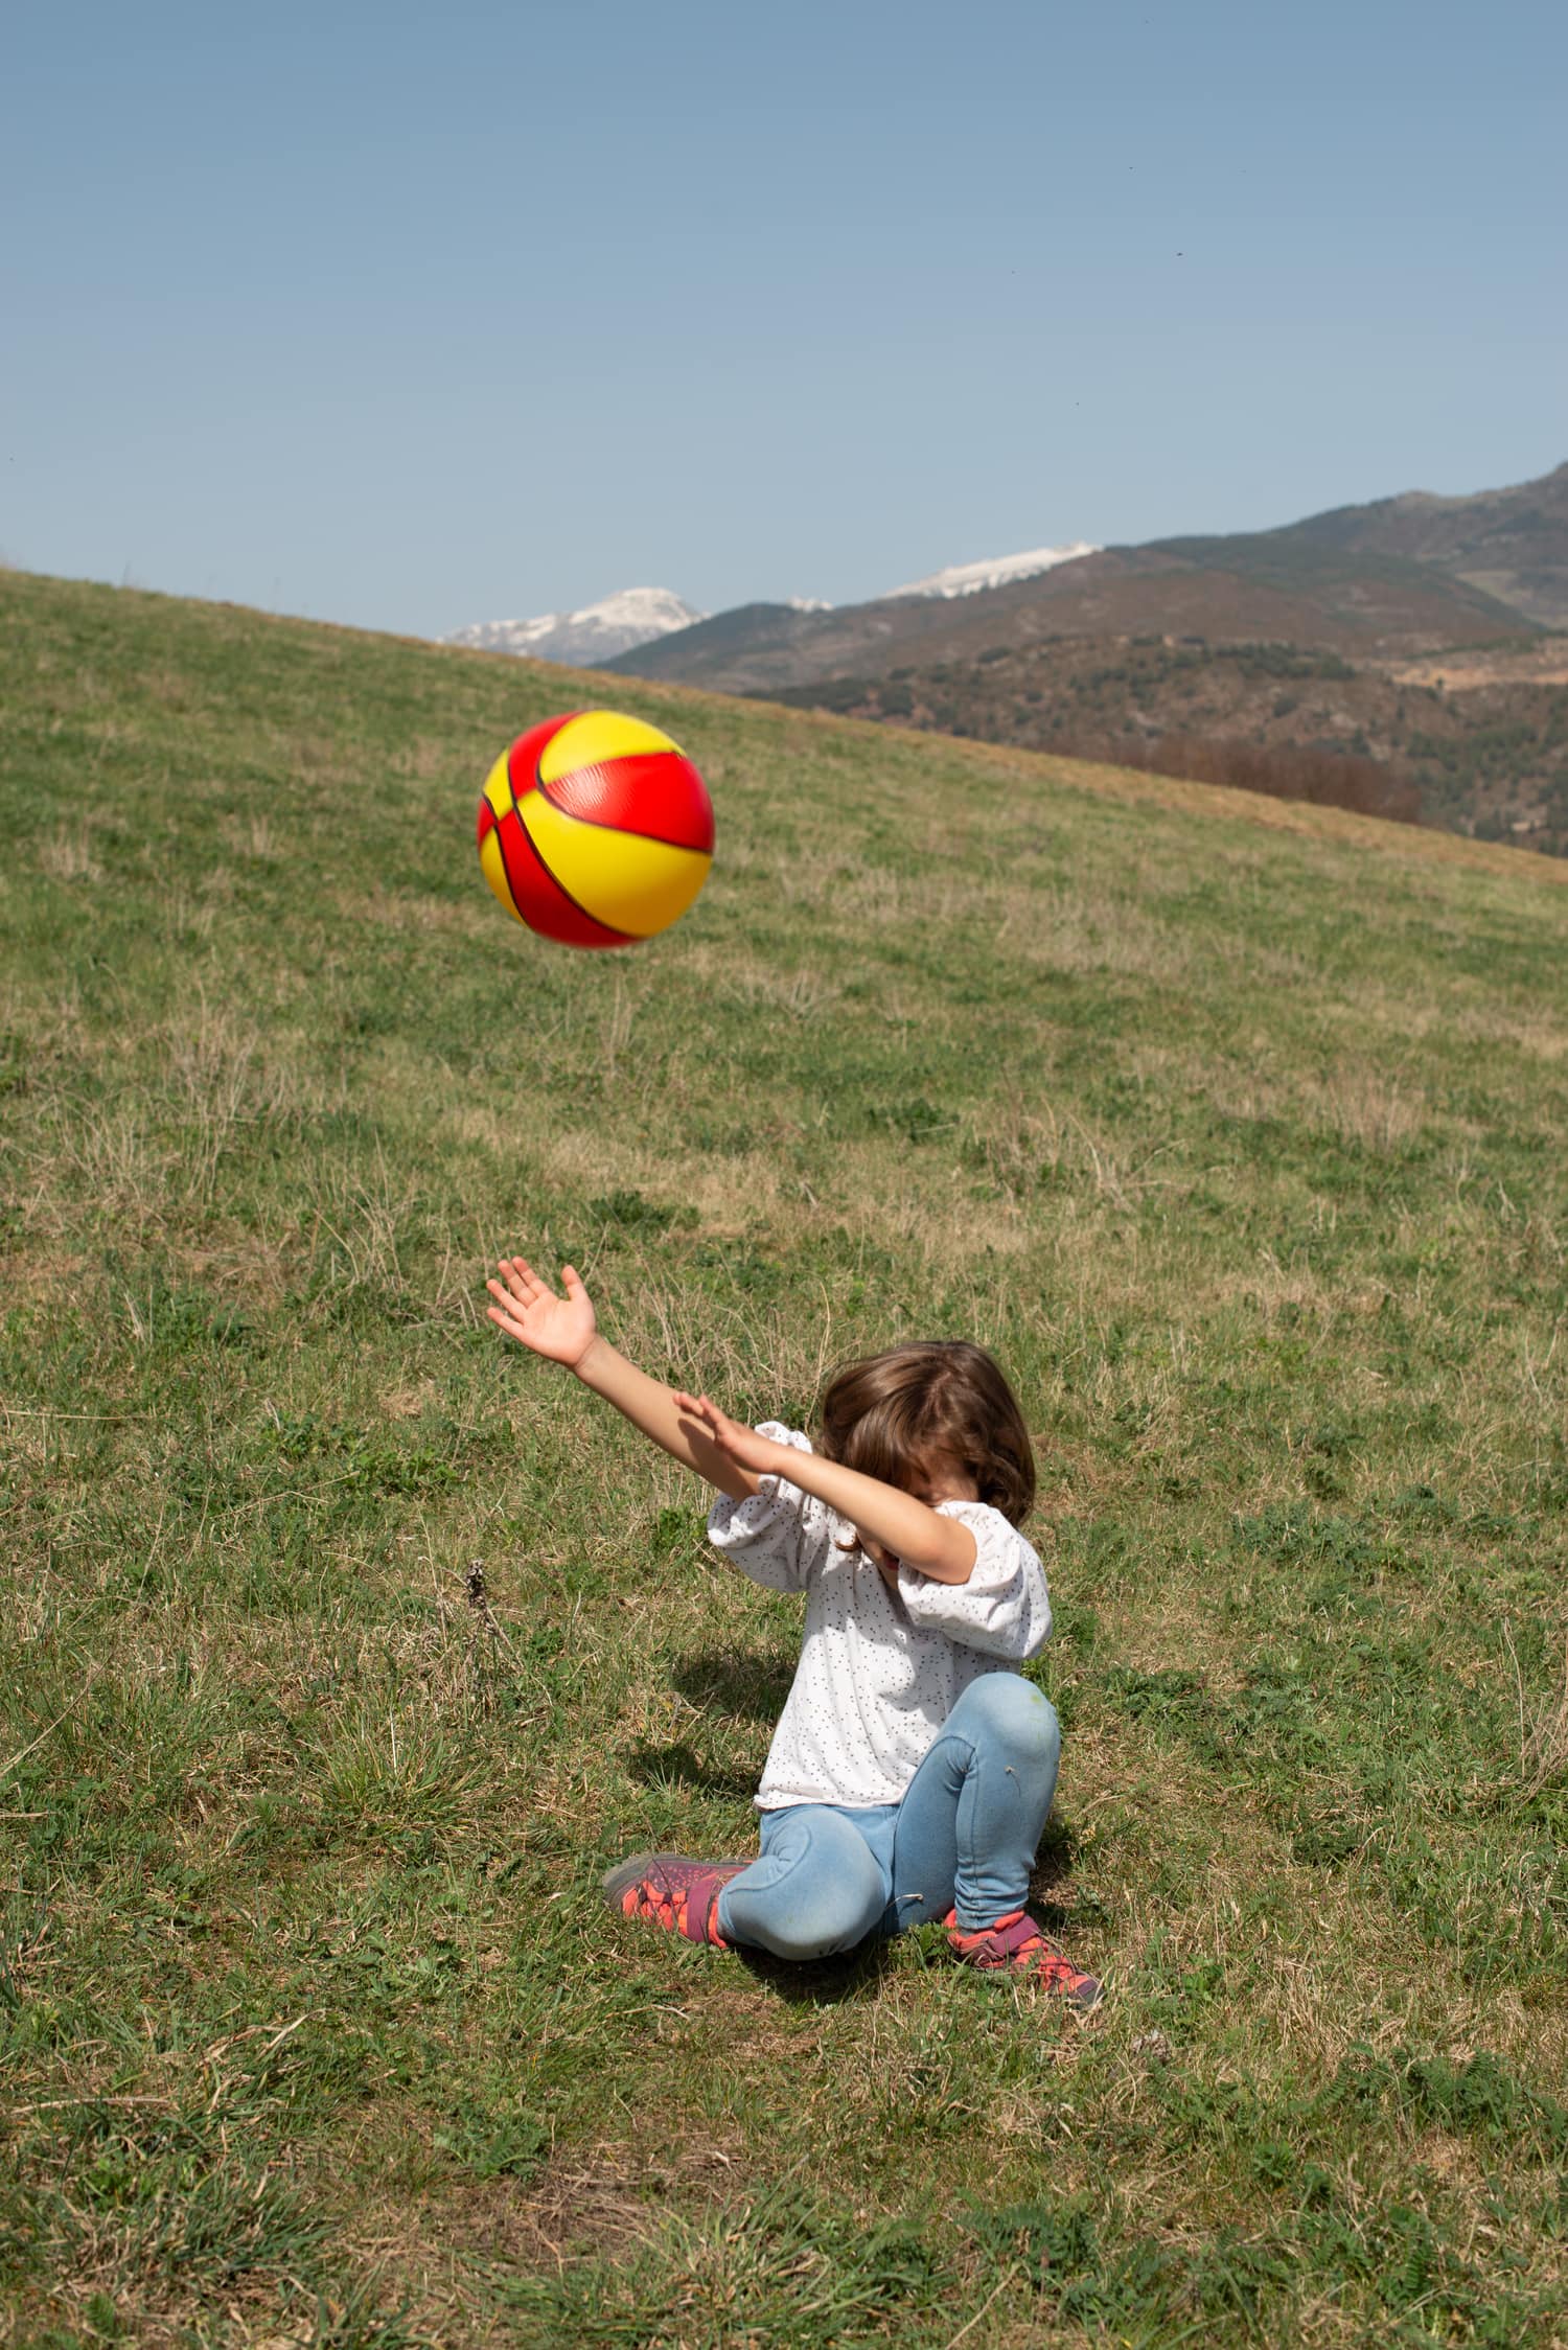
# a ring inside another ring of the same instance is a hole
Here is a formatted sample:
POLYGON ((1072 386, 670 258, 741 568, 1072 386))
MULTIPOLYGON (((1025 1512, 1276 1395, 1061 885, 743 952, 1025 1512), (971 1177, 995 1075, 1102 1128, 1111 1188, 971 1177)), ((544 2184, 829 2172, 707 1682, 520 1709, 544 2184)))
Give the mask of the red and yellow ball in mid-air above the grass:
POLYGON ((480 865, 508 914, 541 938, 630 947, 679 921, 708 879, 708 785, 658 726, 569 710, 491 766, 480 865))

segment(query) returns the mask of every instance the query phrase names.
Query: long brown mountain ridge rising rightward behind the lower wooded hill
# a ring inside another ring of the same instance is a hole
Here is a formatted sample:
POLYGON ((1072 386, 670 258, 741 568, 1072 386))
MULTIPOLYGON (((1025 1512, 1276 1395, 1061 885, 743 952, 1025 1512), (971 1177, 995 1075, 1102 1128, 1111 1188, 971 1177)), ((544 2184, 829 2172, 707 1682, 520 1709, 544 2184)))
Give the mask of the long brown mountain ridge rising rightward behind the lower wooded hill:
POLYGON ((959 564, 827 613, 743 604, 611 667, 722 693, 783 693, 1053 637, 1276 642, 1378 658, 1488 644, 1568 625, 1568 465, 1472 498, 1413 491, 1276 531, 1039 555, 1058 559, 1027 576, 1011 566, 1039 557, 959 564), (952 585, 971 573, 985 576, 952 585))

